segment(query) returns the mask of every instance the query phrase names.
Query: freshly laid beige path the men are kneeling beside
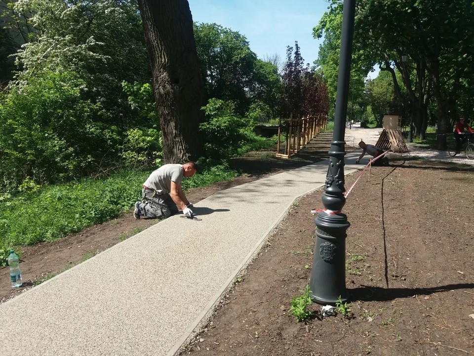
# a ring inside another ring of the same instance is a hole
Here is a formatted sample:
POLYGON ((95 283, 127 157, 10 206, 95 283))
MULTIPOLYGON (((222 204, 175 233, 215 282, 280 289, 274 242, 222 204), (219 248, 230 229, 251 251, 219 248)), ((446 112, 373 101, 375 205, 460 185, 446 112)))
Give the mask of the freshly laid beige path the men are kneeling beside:
POLYGON ((166 219, 0 305, 0 355, 167 355, 326 172, 324 161, 220 191, 196 204, 201 222, 166 219))

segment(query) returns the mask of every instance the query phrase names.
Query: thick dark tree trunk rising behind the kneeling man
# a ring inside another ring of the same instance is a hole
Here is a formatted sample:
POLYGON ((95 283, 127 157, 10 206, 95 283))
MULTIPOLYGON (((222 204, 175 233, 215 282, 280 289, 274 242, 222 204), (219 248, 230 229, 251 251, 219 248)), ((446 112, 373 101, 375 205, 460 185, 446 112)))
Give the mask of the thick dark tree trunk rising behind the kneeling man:
POLYGON ((138 0, 163 137, 164 163, 199 154, 204 86, 187 0, 138 0))

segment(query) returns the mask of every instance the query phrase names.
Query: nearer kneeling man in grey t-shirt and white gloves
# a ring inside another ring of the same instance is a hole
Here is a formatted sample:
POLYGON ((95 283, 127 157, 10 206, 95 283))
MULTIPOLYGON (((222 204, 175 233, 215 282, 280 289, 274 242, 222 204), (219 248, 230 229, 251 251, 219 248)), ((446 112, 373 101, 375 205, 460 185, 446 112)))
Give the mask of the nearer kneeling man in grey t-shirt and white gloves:
POLYGON ((143 183, 141 202, 135 203, 133 216, 140 219, 164 216, 169 218, 179 210, 188 218, 193 217, 193 207, 181 188, 183 177, 193 177, 196 173, 196 163, 188 162, 184 165, 167 164, 153 171, 143 183))

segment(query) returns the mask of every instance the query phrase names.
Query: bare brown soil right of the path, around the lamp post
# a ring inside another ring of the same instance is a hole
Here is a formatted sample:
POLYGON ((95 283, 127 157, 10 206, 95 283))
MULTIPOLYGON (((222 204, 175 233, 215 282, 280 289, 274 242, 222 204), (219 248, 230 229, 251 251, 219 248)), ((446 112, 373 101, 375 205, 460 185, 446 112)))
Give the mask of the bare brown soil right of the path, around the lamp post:
MULTIPOLYGON (((346 189, 359 173, 346 179, 346 189)), ((191 355, 474 355, 472 167, 397 161, 348 197, 350 316, 288 313, 308 283, 322 191, 299 201, 191 355), (308 266, 308 268, 306 268, 308 266), (471 315, 472 314, 472 315, 471 315)))

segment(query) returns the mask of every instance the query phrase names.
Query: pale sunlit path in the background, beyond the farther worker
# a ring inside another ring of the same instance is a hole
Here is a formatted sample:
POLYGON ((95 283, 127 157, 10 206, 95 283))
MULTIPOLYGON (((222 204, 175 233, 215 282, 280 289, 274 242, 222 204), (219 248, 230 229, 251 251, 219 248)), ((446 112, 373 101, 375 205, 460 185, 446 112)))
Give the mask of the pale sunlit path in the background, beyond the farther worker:
MULTIPOLYGON (((360 124, 355 124, 352 126, 352 129, 346 128, 346 135, 345 135, 346 143, 350 146, 357 147, 358 142, 360 142, 360 140, 362 139, 365 143, 375 145, 382 131, 383 129, 362 129, 360 128, 360 124)), ((474 166, 474 160, 468 159, 464 152, 454 157, 451 157, 445 151, 420 148, 420 147, 417 147, 415 144, 408 143, 408 142, 406 142, 406 145, 408 149, 410 150, 410 152, 409 154, 403 154, 403 156, 419 157, 419 158, 425 158, 432 161, 444 161, 444 162, 452 162, 452 163, 467 164, 467 165, 474 166)), ((358 152, 361 153, 362 150, 359 150, 358 152)), ((366 162, 363 161, 362 163, 366 163, 366 162)))

